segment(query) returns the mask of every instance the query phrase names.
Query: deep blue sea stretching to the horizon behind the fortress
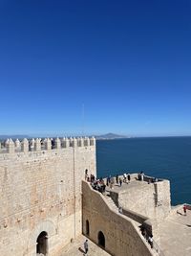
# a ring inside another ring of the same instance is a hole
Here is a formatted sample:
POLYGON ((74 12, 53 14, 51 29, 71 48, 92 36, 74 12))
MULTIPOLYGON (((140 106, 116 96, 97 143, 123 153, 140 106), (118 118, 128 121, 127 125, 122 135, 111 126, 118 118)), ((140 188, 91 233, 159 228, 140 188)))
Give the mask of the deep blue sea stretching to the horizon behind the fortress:
POLYGON ((143 171, 171 182, 172 205, 191 203, 191 137, 96 141, 97 175, 143 171))

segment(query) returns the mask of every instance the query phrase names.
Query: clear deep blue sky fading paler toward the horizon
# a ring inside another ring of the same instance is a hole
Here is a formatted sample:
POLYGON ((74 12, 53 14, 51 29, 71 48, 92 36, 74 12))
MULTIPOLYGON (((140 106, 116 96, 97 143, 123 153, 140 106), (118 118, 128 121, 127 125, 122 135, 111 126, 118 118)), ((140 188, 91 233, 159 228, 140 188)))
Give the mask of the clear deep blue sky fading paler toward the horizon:
POLYGON ((191 2, 0 0, 0 93, 0 134, 191 135, 191 2))

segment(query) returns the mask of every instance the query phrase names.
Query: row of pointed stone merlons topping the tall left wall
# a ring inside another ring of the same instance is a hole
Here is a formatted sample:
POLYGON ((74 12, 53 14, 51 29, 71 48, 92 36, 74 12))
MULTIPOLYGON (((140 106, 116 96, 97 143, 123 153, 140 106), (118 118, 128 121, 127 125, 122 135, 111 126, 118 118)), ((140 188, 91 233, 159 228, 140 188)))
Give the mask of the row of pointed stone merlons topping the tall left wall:
POLYGON ((63 138, 36 138, 23 139, 19 141, 16 139, 7 139, 0 142, 0 153, 15 153, 15 152, 29 152, 29 151, 53 151, 67 148, 81 148, 81 147, 96 147, 95 137, 63 137, 63 138))

